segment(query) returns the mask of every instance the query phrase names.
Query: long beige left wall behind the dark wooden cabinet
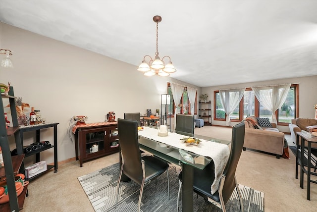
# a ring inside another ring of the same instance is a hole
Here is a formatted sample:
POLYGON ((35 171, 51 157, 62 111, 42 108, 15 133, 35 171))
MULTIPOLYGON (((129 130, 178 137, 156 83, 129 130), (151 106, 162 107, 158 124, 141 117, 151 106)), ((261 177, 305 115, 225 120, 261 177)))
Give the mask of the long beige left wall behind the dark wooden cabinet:
MULTIPOLYGON (((11 82, 16 97, 40 109, 47 122, 58 122, 58 161, 75 157, 71 117, 87 115, 87 123, 103 122, 106 113, 116 118, 124 112, 146 113, 160 109, 160 95, 167 92, 169 77, 146 77, 137 67, 1 23, 0 48, 13 51, 14 68, 0 67, 0 82, 11 82)), ((140 55, 140 62, 144 55, 140 55)), ((7 103, 3 103, 6 105, 7 103)), ((9 116, 9 108, 5 108, 9 116)), ((27 108, 26 113, 30 113, 27 108)), ((53 143, 53 129, 41 131, 41 140, 53 143), (43 136, 42 136, 43 135, 43 136)), ((35 132, 24 133, 24 144, 33 143, 35 132)), ((13 146, 14 139, 10 138, 13 146)), ((53 162, 53 150, 41 153, 53 162)))

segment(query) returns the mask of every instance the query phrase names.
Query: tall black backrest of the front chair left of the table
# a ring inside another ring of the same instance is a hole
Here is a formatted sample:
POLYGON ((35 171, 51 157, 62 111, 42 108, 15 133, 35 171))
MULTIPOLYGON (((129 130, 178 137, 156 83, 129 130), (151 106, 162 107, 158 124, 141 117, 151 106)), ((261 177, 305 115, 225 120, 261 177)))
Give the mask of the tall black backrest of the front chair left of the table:
POLYGON ((141 185, 143 171, 138 142, 138 122, 118 118, 118 136, 124 159, 123 173, 141 185))

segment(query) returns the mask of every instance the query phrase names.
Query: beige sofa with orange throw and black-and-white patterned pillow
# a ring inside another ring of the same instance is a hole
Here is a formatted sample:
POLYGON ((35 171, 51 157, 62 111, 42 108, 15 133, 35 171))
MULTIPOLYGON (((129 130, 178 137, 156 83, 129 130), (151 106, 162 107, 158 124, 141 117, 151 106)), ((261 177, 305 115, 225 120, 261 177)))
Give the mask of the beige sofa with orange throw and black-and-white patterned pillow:
POLYGON ((249 116, 243 120, 245 123, 245 136, 243 150, 246 148, 272 153, 279 159, 284 150, 284 133, 279 132, 275 123, 272 127, 260 127, 255 116, 249 116), (252 120, 250 120, 252 119, 252 120), (254 123, 258 125, 257 129, 254 123))

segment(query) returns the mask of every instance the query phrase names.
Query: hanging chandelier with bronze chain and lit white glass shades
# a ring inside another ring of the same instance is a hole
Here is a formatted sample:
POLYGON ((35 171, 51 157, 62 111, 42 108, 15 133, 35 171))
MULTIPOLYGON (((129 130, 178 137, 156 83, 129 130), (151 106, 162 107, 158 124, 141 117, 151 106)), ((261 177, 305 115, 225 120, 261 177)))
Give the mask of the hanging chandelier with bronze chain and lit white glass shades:
POLYGON ((159 22, 162 20, 162 18, 159 15, 156 15, 153 17, 153 21, 157 23, 157 51, 155 53, 155 59, 150 55, 145 55, 143 57, 142 63, 139 65, 138 71, 144 72, 145 76, 153 76, 153 75, 159 75, 159 76, 169 76, 169 73, 176 72, 176 69, 174 68, 174 65, 170 61, 169 56, 163 56, 162 59, 159 58, 159 52, 158 52, 158 34, 159 34, 159 22), (146 57, 149 57, 149 62, 146 61, 146 57), (164 58, 168 58, 168 62, 165 65, 164 58))

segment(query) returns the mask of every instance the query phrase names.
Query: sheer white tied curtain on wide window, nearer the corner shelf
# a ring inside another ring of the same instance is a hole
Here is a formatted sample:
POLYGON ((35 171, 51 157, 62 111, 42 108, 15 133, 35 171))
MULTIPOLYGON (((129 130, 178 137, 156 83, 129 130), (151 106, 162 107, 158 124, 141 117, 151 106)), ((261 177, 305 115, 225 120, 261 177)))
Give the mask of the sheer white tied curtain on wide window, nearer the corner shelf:
POLYGON ((246 90, 245 88, 219 90, 220 101, 227 115, 227 118, 226 118, 227 126, 230 126, 230 114, 239 105, 245 90, 246 90))

